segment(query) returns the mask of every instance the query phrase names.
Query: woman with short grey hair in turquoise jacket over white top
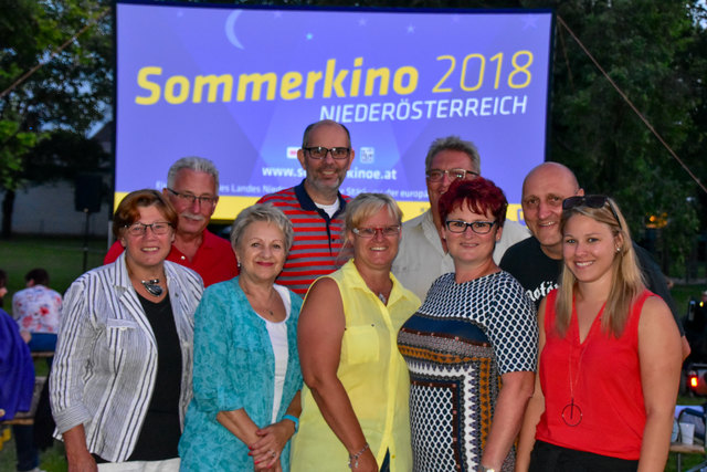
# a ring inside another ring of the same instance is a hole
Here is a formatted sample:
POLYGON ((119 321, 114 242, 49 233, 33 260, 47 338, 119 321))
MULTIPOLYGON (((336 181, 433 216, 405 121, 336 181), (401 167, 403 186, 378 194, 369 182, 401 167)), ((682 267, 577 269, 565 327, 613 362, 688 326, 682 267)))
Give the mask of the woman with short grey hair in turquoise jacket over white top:
POLYGON ((193 400, 179 443, 183 471, 288 471, 298 426, 302 298, 275 285, 293 229, 271 204, 231 232, 241 273, 211 285, 194 315, 193 400))

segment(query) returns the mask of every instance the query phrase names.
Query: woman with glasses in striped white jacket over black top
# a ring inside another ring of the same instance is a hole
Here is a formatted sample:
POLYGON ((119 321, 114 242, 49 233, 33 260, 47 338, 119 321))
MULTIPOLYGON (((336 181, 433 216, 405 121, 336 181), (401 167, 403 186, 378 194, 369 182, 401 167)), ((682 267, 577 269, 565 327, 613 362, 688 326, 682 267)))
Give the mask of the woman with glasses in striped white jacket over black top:
POLYGON ((165 261, 177 222, 159 192, 129 193, 113 220, 125 252, 66 292, 50 391, 68 470, 179 469, 203 283, 165 261))

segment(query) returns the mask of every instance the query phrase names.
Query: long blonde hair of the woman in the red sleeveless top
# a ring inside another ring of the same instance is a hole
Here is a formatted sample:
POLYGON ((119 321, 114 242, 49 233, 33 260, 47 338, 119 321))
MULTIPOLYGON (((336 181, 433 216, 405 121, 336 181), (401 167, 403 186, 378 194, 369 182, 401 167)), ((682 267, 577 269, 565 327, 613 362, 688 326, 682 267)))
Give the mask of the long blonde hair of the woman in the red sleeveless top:
MULTIPOLYGON (((611 265, 612 284, 601 318, 602 331, 619 337, 623 333, 631 314, 631 305, 645 290, 645 283, 641 269, 636 263, 636 254, 633 250, 626 220, 614 200, 606 197, 606 202, 601 208, 579 204, 563 210, 560 222, 562 235, 564 235, 564 228, 568 221, 577 214, 583 214, 594 221, 606 224, 611 229, 614 239, 621 241, 611 265)), ((570 324, 576 284, 577 277, 574 277, 567 264, 563 264, 558 296, 555 303, 557 316, 555 325, 560 336, 564 336, 570 324)))

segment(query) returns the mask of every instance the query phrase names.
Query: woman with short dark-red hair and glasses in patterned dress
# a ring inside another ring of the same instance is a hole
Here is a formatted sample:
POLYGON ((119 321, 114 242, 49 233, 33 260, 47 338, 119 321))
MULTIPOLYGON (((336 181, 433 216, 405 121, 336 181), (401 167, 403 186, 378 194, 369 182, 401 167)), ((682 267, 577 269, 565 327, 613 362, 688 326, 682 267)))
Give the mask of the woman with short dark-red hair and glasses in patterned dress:
POLYGON ((492 255, 506 197, 490 180, 456 180, 440 199, 454 272, 439 277, 400 331, 410 370, 413 471, 511 471, 532 395, 532 303, 492 255))

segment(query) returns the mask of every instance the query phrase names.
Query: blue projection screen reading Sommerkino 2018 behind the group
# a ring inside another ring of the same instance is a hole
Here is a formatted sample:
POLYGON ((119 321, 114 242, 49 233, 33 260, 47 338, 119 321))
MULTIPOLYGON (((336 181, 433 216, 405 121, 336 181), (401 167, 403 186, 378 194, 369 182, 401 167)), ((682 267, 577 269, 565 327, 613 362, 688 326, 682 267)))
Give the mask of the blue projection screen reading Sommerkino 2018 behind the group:
POLYGON ((549 11, 370 11, 116 6, 116 203, 161 189, 183 156, 221 174, 214 218, 298 183, 309 123, 351 132, 341 191, 382 191, 405 219, 429 206, 437 137, 476 144, 482 174, 518 220, 520 186, 545 159, 549 11))

